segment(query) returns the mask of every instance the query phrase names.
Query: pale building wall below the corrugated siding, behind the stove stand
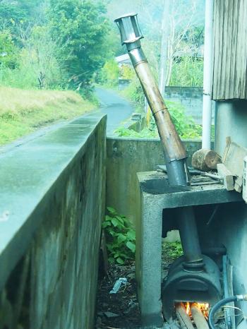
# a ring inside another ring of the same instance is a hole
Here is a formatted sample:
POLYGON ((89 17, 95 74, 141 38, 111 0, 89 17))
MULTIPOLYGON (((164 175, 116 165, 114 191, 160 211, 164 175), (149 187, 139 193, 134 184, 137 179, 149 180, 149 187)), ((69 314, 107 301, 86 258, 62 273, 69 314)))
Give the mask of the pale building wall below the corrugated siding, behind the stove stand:
MULTIPOLYGON (((226 145, 226 137, 247 147, 247 101, 231 100, 217 102, 215 113, 215 149, 222 155, 226 145)), ((227 254, 234 266, 234 293, 247 293, 247 205, 223 205, 219 210, 218 220, 215 222, 215 239, 227 247, 227 254)), ((241 308, 247 312, 247 304, 241 308)), ((240 317, 238 317, 240 318, 240 317)), ((236 320, 238 320, 236 318, 236 320)), ((247 327, 243 321, 238 328, 247 327)))

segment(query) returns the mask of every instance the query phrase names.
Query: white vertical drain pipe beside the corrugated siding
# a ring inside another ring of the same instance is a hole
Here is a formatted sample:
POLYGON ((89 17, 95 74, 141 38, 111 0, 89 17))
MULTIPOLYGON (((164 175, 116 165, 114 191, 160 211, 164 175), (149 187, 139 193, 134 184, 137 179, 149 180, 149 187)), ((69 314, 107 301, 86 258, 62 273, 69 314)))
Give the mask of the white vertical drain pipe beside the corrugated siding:
POLYGON ((203 145, 202 148, 211 149, 211 124, 212 124, 212 22, 214 1, 206 0, 205 3, 205 42, 204 42, 204 67, 203 67, 203 145))

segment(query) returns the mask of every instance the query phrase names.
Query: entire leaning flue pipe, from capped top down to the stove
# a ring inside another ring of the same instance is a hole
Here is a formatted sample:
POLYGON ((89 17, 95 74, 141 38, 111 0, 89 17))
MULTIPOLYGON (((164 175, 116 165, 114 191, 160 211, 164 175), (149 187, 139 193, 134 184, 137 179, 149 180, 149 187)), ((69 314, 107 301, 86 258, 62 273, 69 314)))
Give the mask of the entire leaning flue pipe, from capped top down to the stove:
MULTIPOLYGON (((150 105, 152 114, 164 148, 167 165, 167 176, 171 186, 188 185, 188 169, 186 167, 186 150, 181 143, 179 134, 171 121, 171 116, 159 92, 159 88, 152 76, 147 59, 141 48, 140 39, 143 38, 138 25, 137 14, 131 13, 116 18, 121 33, 121 42, 126 44, 135 72, 143 87, 143 92, 150 105)), ((195 225, 193 208, 186 207, 179 210, 179 231, 183 253, 186 258, 186 268, 203 269, 203 258, 200 251, 198 232, 195 225)))

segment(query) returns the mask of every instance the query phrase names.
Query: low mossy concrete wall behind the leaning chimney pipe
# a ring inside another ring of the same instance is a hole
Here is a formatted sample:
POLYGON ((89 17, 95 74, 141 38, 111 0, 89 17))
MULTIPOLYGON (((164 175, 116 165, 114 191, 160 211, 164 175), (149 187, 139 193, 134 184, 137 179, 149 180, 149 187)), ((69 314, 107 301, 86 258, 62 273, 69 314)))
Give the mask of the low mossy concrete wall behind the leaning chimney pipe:
MULTIPOLYGON (((186 141, 188 165, 200 141, 186 141)), ((108 206, 135 221, 137 172, 155 169, 164 164, 160 140, 144 138, 107 138, 107 200, 108 206)))

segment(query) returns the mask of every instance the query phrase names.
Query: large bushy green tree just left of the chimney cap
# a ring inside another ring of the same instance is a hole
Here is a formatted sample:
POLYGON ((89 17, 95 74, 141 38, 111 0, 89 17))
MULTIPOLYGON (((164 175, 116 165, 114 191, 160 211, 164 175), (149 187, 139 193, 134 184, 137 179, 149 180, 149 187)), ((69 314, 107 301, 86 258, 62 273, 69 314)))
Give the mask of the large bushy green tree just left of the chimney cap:
POLYGON ((51 0, 52 37, 66 44, 64 61, 69 82, 85 87, 107 58, 109 23, 105 8, 91 1, 51 0))

